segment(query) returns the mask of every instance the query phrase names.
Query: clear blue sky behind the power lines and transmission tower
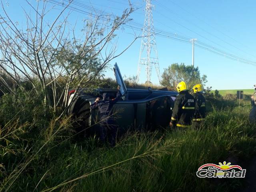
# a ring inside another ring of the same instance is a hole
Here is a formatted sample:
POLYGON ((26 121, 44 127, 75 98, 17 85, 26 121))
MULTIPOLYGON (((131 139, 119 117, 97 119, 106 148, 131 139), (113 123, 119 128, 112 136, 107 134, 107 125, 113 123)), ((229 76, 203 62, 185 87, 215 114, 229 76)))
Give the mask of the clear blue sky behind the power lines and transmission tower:
MULTIPOLYGON (((35 2, 35 0, 28 0, 35 2)), ((57 0, 59 1, 59 0, 57 0)), ((106 12, 120 15, 128 7, 128 0, 76 0, 94 6, 106 12)), ((135 8, 130 18, 134 22, 144 23, 145 1, 130 0, 135 8)), ((22 8, 28 8, 24 0, 4 0, 7 10, 14 20, 25 22, 22 8)), ((152 0, 154 26, 189 38, 196 38, 210 46, 241 58, 256 62, 256 1, 255 0, 152 0)), ((85 15, 72 12, 72 19, 80 20, 85 15)), ((132 31, 124 28, 117 32, 118 51, 126 47, 133 39, 132 31)), ((137 35, 140 32, 136 31, 137 35)), ((141 40, 111 62, 118 63, 124 76, 135 76, 138 66, 141 40)), ((160 73, 172 63, 192 64, 192 44, 156 36, 160 73)), ((250 89, 256 83, 256 66, 230 60, 195 47, 195 66, 201 74, 208 76, 207 86, 213 89, 250 89)), ((153 68, 154 69, 154 68, 153 68)), ((106 76, 114 78, 111 70, 106 76)), ((140 82, 145 82, 145 68, 142 68, 140 82)), ((158 84, 155 70, 151 81, 158 84)))

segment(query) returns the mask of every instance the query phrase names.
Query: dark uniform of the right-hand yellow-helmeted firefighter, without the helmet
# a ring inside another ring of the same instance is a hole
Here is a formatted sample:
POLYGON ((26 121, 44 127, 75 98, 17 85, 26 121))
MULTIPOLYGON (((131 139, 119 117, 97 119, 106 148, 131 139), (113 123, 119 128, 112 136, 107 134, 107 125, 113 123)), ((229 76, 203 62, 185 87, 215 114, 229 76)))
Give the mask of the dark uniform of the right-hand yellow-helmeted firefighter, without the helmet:
POLYGON ((193 125, 198 127, 205 118, 205 98, 201 92, 196 92, 193 96, 196 102, 193 125))

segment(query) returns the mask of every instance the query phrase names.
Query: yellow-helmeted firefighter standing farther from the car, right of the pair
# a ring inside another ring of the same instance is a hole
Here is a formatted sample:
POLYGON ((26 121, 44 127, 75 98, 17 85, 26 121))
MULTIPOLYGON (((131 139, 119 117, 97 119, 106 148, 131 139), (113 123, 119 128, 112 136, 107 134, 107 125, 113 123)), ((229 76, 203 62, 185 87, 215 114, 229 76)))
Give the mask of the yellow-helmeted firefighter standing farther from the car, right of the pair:
POLYGON ((202 95, 203 86, 202 84, 196 84, 193 86, 194 93, 192 94, 195 98, 195 114, 192 124, 195 128, 198 128, 205 118, 205 98, 202 95))

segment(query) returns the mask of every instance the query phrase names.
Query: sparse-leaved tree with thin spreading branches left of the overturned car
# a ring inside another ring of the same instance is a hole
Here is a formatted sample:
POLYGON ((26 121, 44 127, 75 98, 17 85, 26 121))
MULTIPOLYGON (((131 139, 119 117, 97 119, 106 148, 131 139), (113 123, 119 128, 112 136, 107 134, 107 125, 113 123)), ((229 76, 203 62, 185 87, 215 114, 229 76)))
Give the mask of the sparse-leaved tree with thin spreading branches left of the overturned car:
POLYGON ((37 1, 34 6, 26 2, 30 11, 24 10, 25 29, 10 18, 1 2, 0 70, 5 76, 0 76, 0 84, 15 94, 5 77, 20 88, 23 88, 22 82, 28 81, 37 92, 44 94, 44 104, 55 110, 68 108, 71 86, 78 90, 80 86, 90 85, 111 60, 139 38, 134 35, 131 44, 116 53, 115 32, 130 21, 131 4, 115 18, 92 9, 78 32, 76 23, 71 27, 68 22, 73 0, 62 7, 51 23, 46 20, 46 16, 56 12, 54 7, 49 8, 51 4, 37 1))

